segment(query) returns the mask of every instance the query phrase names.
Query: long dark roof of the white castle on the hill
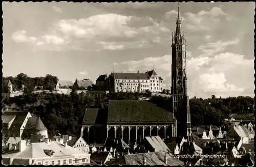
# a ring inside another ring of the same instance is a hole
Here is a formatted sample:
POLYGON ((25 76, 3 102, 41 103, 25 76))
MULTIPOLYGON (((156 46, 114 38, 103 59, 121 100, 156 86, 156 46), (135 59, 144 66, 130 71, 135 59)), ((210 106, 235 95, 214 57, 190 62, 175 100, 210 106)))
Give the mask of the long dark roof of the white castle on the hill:
POLYGON ((114 79, 149 79, 146 73, 114 73, 114 79))

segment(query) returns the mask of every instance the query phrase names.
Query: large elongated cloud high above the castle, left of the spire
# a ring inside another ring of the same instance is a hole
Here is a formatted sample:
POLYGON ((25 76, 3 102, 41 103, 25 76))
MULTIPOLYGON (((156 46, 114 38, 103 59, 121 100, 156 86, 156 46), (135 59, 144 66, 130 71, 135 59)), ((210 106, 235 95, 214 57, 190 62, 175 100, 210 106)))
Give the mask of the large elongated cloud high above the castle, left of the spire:
MULTIPOLYGON (((41 42, 62 44, 65 49, 121 50, 148 47, 152 42, 161 43, 162 36, 166 38, 166 34, 169 33, 170 30, 164 21, 158 22, 152 17, 108 13, 87 18, 59 20, 53 24, 47 34, 41 37, 41 42), (75 47, 65 45, 67 43, 75 47)), ((42 45, 41 42, 38 44, 42 45)))

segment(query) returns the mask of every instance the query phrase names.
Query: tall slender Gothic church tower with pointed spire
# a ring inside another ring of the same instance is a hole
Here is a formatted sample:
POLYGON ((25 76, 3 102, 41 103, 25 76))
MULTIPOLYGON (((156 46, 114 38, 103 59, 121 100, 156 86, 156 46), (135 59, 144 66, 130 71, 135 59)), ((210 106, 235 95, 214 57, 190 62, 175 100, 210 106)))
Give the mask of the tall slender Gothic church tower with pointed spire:
POLYGON ((172 35, 172 104, 174 120, 173 137, 191 138, 189 99, 186 77, 186 36, 181 33, 180 6, 176 19, 176 31, 172 35))

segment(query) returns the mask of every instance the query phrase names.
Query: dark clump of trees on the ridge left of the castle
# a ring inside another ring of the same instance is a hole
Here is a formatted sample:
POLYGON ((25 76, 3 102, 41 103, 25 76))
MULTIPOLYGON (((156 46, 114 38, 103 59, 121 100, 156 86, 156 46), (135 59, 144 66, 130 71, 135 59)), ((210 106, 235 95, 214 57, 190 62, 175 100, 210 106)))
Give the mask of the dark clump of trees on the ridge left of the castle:
POLYGON ((8 93, 8 81, 11 81, 13 91, 22 90, 23 85, 25 86, 24 92, 32 92, 35 89, 44 89, 53 91, 57 82, 58 78, 56 76, 52 76, 47 74, 45 77, 29 77, 24 73, 20 73, 15 77, 8 76, 2 78, 2 93, 8 93))

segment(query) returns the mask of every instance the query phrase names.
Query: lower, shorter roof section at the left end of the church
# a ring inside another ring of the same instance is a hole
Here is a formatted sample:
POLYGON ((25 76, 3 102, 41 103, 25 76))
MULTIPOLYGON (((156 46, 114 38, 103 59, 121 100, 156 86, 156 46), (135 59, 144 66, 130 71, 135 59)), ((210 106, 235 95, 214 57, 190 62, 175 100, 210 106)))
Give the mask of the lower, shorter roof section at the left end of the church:
POLYGON ((82 124, 106 124, 108 111, 99 108, 87 108, 82 124))

